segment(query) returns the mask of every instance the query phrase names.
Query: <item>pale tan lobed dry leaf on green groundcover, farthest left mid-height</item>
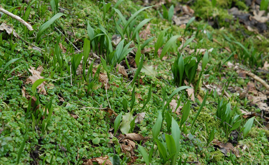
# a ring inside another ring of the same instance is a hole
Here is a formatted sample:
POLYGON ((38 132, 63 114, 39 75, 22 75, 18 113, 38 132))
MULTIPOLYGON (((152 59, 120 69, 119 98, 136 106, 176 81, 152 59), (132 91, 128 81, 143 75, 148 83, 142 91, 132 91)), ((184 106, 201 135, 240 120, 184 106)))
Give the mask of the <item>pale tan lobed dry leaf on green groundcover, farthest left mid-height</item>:
MULTIPOLYGON (((28 69, 31 73, 32 73, 32 76, 29 76, 28 79, 26 79, 26 82, 25 83, 35 83, 38 79, 43 79, 44 77, 40 76, 40 72, 35 70, 34 67, 31 67, 31 69, 28 69)), ((38 87, 38 93, 40 94, 43 94, 43 95, 46 95, 46 90, 45 90, 45 82, 42 82, 38 87)))

